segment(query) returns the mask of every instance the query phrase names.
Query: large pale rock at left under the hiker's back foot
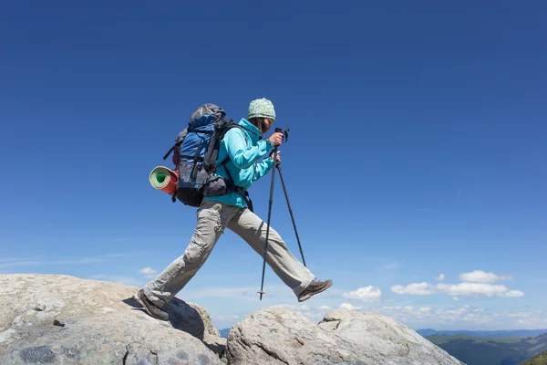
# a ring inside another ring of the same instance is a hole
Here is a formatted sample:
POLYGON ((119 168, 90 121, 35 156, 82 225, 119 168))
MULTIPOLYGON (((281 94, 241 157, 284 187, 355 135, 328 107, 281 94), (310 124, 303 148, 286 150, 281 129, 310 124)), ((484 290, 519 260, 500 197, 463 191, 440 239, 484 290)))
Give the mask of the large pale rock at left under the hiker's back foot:
POLYGON ((0 275, 1 363, 223 364, 222 339, 204 308, 175 298, 163 322, 139 308, 137 290, 73 276, 0 275))

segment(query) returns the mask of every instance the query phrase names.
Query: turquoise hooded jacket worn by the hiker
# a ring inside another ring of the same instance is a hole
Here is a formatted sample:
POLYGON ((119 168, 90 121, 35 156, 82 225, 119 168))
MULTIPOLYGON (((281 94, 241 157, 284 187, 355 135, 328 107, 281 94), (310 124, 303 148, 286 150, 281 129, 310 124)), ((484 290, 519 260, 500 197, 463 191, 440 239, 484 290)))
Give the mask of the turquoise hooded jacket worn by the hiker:
MULTIPOLYGON (((228 179, 228 174, 224 169, 228 169, 233 178, 233 183, 247 190, 251 184, 260 179, 272 170, 274 160, 271 158, 263 159, 274 145, 268 140, 261 140, 260 130, 256 128, 249 120, 242 119, 238 123, 243 127, 232 128, 224 135, 217 158, 217 165, 222 162, 226 156, 230 156, 230 162, 219 168, 215 175, 228 179), (245 133, 247 141, 245 141, 245 133)), ((227 203, 239 207, 245 207, 247 204, 240 193, 227 193, 221 196, 206 196, 203 199, 216 202, 227 203)))

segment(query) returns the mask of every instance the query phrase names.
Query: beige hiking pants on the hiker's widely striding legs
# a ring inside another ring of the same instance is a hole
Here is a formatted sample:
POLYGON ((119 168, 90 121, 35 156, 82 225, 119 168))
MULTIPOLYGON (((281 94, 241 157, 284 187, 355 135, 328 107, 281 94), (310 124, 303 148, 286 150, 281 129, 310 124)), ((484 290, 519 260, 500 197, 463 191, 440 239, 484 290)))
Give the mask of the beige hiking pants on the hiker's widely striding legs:
MULTIPOLYGON (((184 255, 143 287, 144 294, 160 308, 169 302, 203 266, 225 227, 242 237, 263 257, 267 224, 262 219, 247 208, 204 200, 198 209, 198 224, 184 255)), ((293 289, 296 296, 314 279, 312 273, 291 254, 281 236, 271 227, 266 263, 285 285, 293 289)))

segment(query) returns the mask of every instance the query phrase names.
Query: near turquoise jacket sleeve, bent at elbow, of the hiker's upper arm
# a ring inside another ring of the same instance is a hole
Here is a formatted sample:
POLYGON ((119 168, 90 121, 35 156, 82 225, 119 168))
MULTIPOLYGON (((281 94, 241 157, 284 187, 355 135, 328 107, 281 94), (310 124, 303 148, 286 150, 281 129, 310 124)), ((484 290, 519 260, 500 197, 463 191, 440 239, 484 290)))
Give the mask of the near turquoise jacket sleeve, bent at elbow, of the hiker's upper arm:
POLYGON ((274 146, 261 140, 255 146, 247 146, 242 130, 232 129, 226 132, 223 142, 230 160, 238 169, 246 169, 263 158, 274 146))

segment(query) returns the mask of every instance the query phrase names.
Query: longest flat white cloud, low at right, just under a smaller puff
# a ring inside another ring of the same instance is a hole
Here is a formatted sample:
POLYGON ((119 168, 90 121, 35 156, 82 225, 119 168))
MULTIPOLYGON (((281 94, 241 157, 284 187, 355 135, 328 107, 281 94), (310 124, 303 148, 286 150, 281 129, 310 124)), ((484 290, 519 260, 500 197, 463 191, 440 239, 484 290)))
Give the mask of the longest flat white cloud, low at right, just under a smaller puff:
MULTIPOLYGON (((412 296, 428 296, 431 294, 446 294, 450 297, 477 296, 487 297, 523 297, 524 293, 519 290, 509 290, 503 285, 493 285, 487 283, 459 283, 436 285, 428 283, 414 283, 408 286, 396 285, 391 287, 391 291, 396 294, 408 294, 412 296)), ((456 299, 455 299, 456 300, 456 299)))

